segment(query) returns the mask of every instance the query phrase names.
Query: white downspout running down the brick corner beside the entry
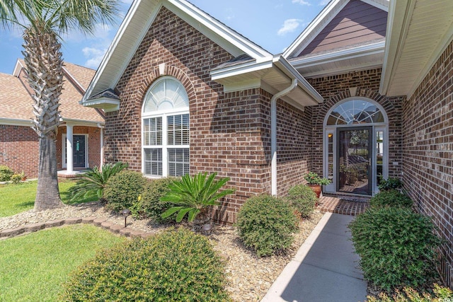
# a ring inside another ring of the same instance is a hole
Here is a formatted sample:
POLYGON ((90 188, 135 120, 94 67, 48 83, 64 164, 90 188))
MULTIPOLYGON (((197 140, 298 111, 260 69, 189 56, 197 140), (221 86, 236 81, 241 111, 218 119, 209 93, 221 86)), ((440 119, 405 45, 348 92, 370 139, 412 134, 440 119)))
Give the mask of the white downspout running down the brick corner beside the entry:
POLYGON ((277 195, 277 100, 284 95, 287 95, 297 86, 297 79, 292 79, 292 83, 288 88, 275 93, 270 99, 270 183, 271 192, 277 195))

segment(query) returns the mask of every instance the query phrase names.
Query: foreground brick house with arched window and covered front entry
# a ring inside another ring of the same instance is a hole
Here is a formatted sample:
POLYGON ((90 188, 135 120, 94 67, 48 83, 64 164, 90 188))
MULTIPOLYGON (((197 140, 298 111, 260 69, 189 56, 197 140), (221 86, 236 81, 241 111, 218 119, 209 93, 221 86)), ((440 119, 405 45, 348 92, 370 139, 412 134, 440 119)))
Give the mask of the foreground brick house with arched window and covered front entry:
POLYGON ((333 194, 403 180, 453 278, 453 1, 332 0, 270 54, 184 0, 132 4, 83 104, 105 110, 105 160, 150 178, 200 171, 285 195, 313 170, 333 194))

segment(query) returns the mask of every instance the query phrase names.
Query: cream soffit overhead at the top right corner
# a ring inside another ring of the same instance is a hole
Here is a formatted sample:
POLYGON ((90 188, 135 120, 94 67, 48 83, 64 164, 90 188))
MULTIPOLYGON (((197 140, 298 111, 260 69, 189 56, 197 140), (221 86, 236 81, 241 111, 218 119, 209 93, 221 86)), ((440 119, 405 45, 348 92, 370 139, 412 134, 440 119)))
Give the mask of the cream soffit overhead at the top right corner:
POLYGON ((411 97, 452 38, 452 0, 392 0, 379 93, 411 97))

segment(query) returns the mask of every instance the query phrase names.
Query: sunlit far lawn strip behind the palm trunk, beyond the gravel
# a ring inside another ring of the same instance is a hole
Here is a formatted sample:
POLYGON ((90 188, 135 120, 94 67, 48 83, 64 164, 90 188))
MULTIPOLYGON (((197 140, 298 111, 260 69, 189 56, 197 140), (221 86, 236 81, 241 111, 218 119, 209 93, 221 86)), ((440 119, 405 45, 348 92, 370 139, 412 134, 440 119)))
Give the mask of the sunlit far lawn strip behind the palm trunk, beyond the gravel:
MULTIPOLYGON (((98 200, 97 197, 89 197, 76 200, 76 202, 69 202, 68 190, 73 185, 75 185, 75 182, 71 180, 58 183, 59 194, 65 204, 79 204, 98 200)), ((21 182, 17 185, 0 185, 0 217, 11 216, 33 209, 37 187, 38 181, 21 182)))

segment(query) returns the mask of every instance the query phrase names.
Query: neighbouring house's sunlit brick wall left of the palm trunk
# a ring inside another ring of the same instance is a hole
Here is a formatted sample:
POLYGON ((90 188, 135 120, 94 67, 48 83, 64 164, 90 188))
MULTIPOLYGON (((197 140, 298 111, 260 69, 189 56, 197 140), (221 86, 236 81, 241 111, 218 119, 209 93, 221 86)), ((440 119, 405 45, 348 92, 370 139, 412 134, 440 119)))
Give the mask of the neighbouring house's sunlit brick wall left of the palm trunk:
POLYGON ((38 177, 38 134, 30 127, 0 124, 0 165, 38 177))

